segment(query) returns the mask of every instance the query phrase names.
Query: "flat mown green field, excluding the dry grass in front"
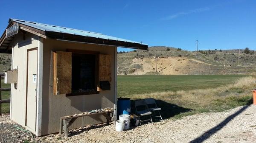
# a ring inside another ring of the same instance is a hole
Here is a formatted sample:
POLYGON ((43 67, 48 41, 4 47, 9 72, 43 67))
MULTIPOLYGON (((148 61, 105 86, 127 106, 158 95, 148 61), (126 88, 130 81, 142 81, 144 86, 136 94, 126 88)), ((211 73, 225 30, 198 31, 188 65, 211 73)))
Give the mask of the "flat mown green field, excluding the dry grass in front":
POLYGON ((221 87, 244 75, 120 75, 117 76, 118 97, 163 91, 221 87))

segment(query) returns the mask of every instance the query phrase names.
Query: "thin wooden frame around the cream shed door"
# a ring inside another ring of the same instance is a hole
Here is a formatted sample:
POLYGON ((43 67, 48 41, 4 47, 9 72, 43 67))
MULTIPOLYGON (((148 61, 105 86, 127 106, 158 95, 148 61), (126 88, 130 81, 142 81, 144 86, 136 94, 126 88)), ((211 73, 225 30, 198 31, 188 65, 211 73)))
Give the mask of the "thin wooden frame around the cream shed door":
MULTIPOLYGON (((28 104, 28 70, 29 70, 29 51, 32 51, 32 50, 38 50, 38 47, 37 48, 31 48, 31 49, 27 49, 27 64, 26 64, 26 113, 25 113, 25 126, 27 126, 27 104, 28 104)), ((37 52, 37 59, 38 61, 38 52, 37 52)), ((36 71, 37 71, 37 76, 38 76, 38 62, 37 63, 37 67, 36 67, 36 71)), ((38 78, 37 78, 38 79, 38 78)), ((37 88, 37 84, 38 82, 36 83, 36 88, 37 88)), ((37 93, 36 93, 36 96, 37 96, 37 93)), ((36 104, 35 104, 35 132, 36 132, 36 129, 37 129, 37 126, 36 126, 36 123, 37 123, 37 100, 36 100, 36 104)))

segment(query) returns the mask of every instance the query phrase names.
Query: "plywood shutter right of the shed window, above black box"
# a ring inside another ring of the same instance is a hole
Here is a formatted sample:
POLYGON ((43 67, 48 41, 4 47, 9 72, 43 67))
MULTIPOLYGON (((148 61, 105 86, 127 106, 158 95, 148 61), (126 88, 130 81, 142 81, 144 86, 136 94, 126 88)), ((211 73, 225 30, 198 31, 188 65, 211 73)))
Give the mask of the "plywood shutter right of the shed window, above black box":
POLYGON ((111 55, 99 55, 99 81, 111 81, 111 55))

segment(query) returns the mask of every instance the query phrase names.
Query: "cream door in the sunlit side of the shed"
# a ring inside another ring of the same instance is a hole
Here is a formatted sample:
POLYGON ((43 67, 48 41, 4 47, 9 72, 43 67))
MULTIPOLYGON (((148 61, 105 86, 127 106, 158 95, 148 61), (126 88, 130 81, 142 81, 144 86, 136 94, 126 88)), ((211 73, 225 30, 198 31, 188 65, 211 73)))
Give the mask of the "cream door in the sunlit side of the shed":
POLYGON ((26 126, 34 131, 36 129, 37 60, 38 49, 29 49, 27 52, 26 126))

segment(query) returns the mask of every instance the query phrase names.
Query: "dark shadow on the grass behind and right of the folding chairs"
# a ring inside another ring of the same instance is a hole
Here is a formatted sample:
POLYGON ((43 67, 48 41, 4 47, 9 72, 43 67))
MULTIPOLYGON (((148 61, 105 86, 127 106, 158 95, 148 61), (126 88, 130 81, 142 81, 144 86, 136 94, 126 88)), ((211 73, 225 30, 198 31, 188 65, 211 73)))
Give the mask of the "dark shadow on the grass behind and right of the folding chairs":
MULTIPOLYGON (((183 112, 190 112, 192 109, 189 108, 183 108, 180 106, 177 106, 175 104, 170 104, 168 102, 162 101, 162 100, 155 100, 157 103, 157 107, 161 108, 161 115, 163 119, 171 118, 175 115, 178 115, 183 112)), ((131 100, 131 113, 135 113, 135 105, 134 100, 131 100)))

